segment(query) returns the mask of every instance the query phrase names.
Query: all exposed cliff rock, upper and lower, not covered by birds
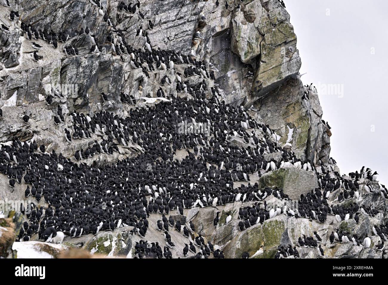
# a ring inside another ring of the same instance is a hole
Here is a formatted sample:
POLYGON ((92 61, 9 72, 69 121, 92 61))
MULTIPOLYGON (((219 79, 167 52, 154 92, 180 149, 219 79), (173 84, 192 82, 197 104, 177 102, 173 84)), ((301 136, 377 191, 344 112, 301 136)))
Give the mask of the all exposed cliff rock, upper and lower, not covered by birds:
MULTIPOLYGON (((190 86, 205 82, 209 87, 207 97, 212 94, 210 88, 217 87, 226 103, 235 107, 243 105, 258 123, 267 124, 280 136, 280 139, 275 138, 275 142, 278 141, 287 150, 293 150, 302 161, 314 163, 318 173, 324 169, 335 177, 334 171, 339 172, 335 163, 329 161, 331 132, 321 121, 323 112, 318 94, 307 90, 298 76, 301 59, 296 47, 296 35, 288 12, 278 0, 246 0, 243 3, 239 0, 222 0, 219 5, 215 0, 141 0, 140 8, 135 13, 120 11, 120 2, 102 0, 102 8, 99 8, 94 5, 95 2, 85 0, 9 0, 9 7, 0 6, 0 21, 9 28, 8 31, 1 31, 0 36, 0 107, 3 111, 0 117, 0 142, 10 143, 13 138, 22 142, 35 140, 38 145, 45 145, 48 153, 55 150, 57 154, 62 153, 64 157, 74 159, 77 150, 91 146, 99 136, 92 134, 90 138, 68 143, 64 129, 72 130, 70 114, 80 112, 92 116, 99 111, 109 111, 125 117, 130 108, 137 107, 139 103, 130 105, 123 102, 121 93, 129 98, 158 97, 159 88, 168 97, 193 100, 193 96, 178 88, 176 76, 179 73, 190 86), (241 6, 240 9, 237 9, 238 6, 241 6), (18 10, 20 15, 14 21, 8 19, 11 10, 18 10), (152 28, 148 20, 153 23, 152 28), (21 22, 31 24, 36 30, 56 34, 62 31, 70 36, 64 43, 58 41, 57 48, 42 39, 35 40, 42 46, 38 50, 42 58, 35 61, 35 49, 31 46, 34 39, 26 38, 26 33, 20 29, 21 22), (174 71, 155 68, 143 72, 141 68, 133 68, 131 54, 120 52, 117 43, 121 31, 126 43, 134 50, 146 50, 145 38, 137 36, 140 26, 147 32, 152 49, 173 50, 182 55, 194 54, 192 59, 201 61, 207 70, 211 69, 210 63, 218 69, 215 79, 200 73, 184 78, 185 68, 189 66, 185 63, 175 64, 174 71), (90 29, 90 34, 72 35, 81 28, 90 29), (196 36, 196 32, 200 32, 201 36, 196 36), (78 49, 78 55, 64 53, 64 48, 70 46, 78 49), (162 86, 161 80, 165 76, 169 76, 171 84, 162 86), (70 92, 58 95, 56 90, 57 93, 53 93, 51 86, 58 84, 70 92), (108 100, 102 99, 102 92, 108 100), (305 92, 308 100, 302 100, 305 92), (51 105, 46 104, 49 95, 54 95, 51 105), (62 108, 64 122, 56 125, 53 116, 57 115, 58 105, 62 108), (30 117, 27 123, 21 118, 24 114, 30 117)), ((82 162, 98 167, 113 164, 125 157, 135 157, 141 152, 139 145, 119 144, 118 152, 94 155, 82 162)), ((280 152, 270 154, 267 160, 271 158, 280 161, 280 152)), ((27 185, 17 183, 10 190, 7 177, 0 175, 0 198, 24 200, 27 185)), ((275 178, 268 177, 274 175, 271 171, 265 175, 267 178, 263 175, 260 180, 258 175, 255 176, 259 185, 263 188, 274 185, 284 188, 286 194, 290 197, 293 195, 293 199, 322 186, 315 174, 311 176, 303 169, 286 169, 275 178)), ((360 187, 367 182, 360 181, 360 187)), ((378 192, 378 184, 373 185, 378 192)), ((339 192, 340 189, 331 194, 330 202, 335 203, 339 192)), ((360 199, 356 202, 375 199, 378 209, 385 211, 383 197, 362 192, 360 199)), ((36 204, 47 206, 43 199, 36 204)), ((372 248, 353 247, 352 243, 332 245, 328 241, 331 231, 340 226, 357 231, 359 237, 368 236, 371 225, 383 223, 383 213, 375 217, 365 215, 360 225, 337 223, 334 216, 329 216, 325 223, 318 223, 281 215, 239 231, 239 208, 253 204, 235 202, 218 206, 218 209, 195 207, 185 209, 184 215, 173 214, 173 217, 187 222, 187 225, 189 220, 194 221, 197 229, 191 233, 192 238, 203 235, 222 249, 225 257, 241 257, 243 252, 253 256, 261 245, 264 248, 261 257, 273 257, 278 245, 295 245, 298 237, 303 234, 310 236, 313 231, 318 231, 324 240, 322 248, 326 256, 383 256, 383 252, 372 248), (218 211, 221 212, 220 223, 215 227, 213 219, 218 211), (225 217, 229 214, 232 221, 225 224, 225 217)), ((156 230, 158 219, 160 215, 149 217, 151 226, 146 239, 165 244, 163 236, 156 230)), ((142 238, 130 235, 130 230, 132 227, 118 228, 112 232, 100 232, 96 236, 89 234, 67 238, 66 242, 93 253, 131 257, 135 254, 135 242, 142 238)), ((170 234, 176 245, 174 257, 182 257, 187 240, 181 233, 171 231, 170 234)), ((375 237, 372 242, 377 244, 378 238, 375 237)), ((23 246, 18 245, 14 250, 23 250, 23 246)), ((300 255, 319 257, 320 252, 316 247, 301 248, 300 255)))

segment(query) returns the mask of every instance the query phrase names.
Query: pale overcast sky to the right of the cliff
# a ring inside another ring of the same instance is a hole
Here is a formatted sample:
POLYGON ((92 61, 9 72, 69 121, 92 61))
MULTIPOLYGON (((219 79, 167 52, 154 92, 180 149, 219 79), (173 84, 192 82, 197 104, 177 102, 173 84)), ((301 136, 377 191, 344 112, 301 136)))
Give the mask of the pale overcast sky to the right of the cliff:
POLYGON ((388 185, 386 0, 284 0, 304 84, 318 89, 341 174, 362 166, 388 185))

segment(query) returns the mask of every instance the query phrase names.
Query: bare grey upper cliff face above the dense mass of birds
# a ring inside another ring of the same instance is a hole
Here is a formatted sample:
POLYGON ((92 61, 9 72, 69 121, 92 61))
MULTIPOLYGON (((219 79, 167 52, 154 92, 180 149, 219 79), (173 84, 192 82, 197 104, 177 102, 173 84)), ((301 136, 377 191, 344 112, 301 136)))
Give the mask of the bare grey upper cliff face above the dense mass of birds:
MULTIPOLYGON (((140 25, 146 29, 147 21, 139 14, 118 11, 119 1, 101 3, 116 29, 128 31, 125 40, 133 48, 144 47, 144 40, 135 35, 140 25)), ((239 1, 227 3, 228 9, 224 3, 217 7, 215 1, 164 1, 163 5, 159 1, 142 2, 142 14, 154 23, 153 29, 147 29, 152 48, 185 55, 194 50, 197 60, 211 62, 220 71, 214 82, 226 102, 246 107, 254 104, 265 123, 283 140, 288 135, 287 126, 294 129, 293 150, 298 157, 327 162, 329 138, 324 135, 326 127, 320 122, 319 99, 313 95, 310 104, 300 104, 304 91, 296 75, 301 60, 286 9, 278 1, 246 1, 239 11, 235 8, 239 1), (202 16, 206 19, 201 20, 202 16), (196 31, 205 39, 193 38, 196 31), (293 80, 283 85, 291 77, 293 80)), ((156 95, 159 84, 155 83, 165 76, 165 71, 156 69, 147 78, 140 69, 131 69, 129 55, 116 55, 107 40, 113 28, 99 15, 95 5, 88 1, 16 1, 13 4, 10 1, 10 5, 0 7, 1 19, 9 26, 8 32, 2 31, 0 106, 5 104, 5 107, 0 121, 1 141, 15 136, 22 140, 35 138, 38 144, 45 143, 49 150, 55 148, 66 156, 79 149, 77 146, 68 149, 58 128, 51 124, 53 111, 42 103, 50 85, 61 84, 76 90, 59 98, 66 112, 93 114, 104 109, 125 114, 127 106, 121 103, 120 92, 135 97, 156 95), (10 10, 16 8, 20 21, 33 25, 36 30, 58 33, 88 26, 90 35, 94 35, 104 52, 90 53, 92 38, 85 34, 66 43, 58 41, 57 48, 38 40, 42 45, 38 54, 43 59, 35 62, 31 60, 33 40, 22 35, 20 22, 7 19, 10 10), (64 46, 69 45, 78 48, 78 56, 64 54, 64 46), (101 92, 107 94, 108 103, 102 104, 101 92), (14 120, 17 114, 24 113, 31 117, 27 124, 14 120)), ((192 77, 191 84, 202 80, 200 76, 192 77)), ((176 96, 176 83, 165 88, 165 93, 176 96)))

